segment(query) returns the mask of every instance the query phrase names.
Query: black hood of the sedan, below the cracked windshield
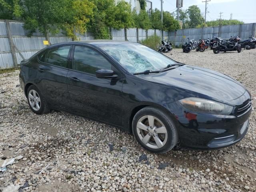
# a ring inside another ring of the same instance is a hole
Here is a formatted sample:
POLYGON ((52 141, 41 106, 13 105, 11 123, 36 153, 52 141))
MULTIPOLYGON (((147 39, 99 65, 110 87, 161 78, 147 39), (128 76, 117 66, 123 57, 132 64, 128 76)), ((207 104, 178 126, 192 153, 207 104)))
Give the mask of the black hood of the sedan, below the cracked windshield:
POLYGON ((140 77, 152 82, 191 90, 220 101, 234 100, 245 92, 242 84, 229 76, 190 65, 140 77))

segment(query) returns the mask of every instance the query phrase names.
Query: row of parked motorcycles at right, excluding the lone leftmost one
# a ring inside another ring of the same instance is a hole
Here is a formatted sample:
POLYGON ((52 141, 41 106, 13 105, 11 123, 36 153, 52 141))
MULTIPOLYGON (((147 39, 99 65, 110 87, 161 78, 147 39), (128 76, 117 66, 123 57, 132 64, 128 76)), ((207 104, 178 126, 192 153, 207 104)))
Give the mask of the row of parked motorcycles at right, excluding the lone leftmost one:
POLYGON ((244 49, 254 49, 256 48, 256 38, 248 38, 241 41, 239 36, 232 37, 228 40, 223 40, 220 37, 214 37, 213 39, 202 40, 199 39, 195 41, 194 39, 189 39, 184 45, 182 45, 183 52, 189 53, 191 50, 196 49, 196 51, 203 52, 208 47, 213 50, 215 54, 219 52, 227 51, 237 51, 240 53, 242 48, 244 49))

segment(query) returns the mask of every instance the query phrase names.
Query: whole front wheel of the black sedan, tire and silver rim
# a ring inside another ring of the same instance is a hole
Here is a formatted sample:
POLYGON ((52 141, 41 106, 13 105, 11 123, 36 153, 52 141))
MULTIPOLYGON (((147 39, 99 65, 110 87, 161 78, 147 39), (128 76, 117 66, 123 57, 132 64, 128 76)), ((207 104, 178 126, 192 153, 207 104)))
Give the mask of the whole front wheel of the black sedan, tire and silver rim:
POLYGON ((178 132, 170 115, 154 107, 139 110, 132 120, 138 143, 153 153, 166 153, 178 143, 178 132))

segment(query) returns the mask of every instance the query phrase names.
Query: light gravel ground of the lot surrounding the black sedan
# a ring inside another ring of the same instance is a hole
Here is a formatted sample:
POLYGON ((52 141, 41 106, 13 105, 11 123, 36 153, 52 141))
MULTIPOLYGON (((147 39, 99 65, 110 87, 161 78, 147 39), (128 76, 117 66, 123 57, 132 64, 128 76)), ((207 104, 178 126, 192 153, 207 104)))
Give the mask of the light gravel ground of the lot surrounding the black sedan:
MULTIPOLYGON (((255 49, 220 54, 175 49, 167 55, 232 76, 256 100, 255 49)), ((0 159, 23 156, 0 172, 0 191, 14 185, 39 192, 256 191, 255 111, 248 134, 234 146, 152 154, 118 128, 66 112, 34 114, 18 73, 0 74, 0 159)))

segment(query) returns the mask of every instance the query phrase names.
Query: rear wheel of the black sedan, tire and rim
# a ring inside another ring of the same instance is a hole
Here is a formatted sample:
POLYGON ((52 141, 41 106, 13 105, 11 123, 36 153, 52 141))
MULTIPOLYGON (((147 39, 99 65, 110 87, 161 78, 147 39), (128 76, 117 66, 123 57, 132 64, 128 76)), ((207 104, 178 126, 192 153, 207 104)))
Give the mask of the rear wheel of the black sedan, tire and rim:
POLYGON ((38 115, 48 113, 50 108, 42 96, 41 92, 34 85, 31 85, 27 90, 27 99, 30 109, 38 115))

